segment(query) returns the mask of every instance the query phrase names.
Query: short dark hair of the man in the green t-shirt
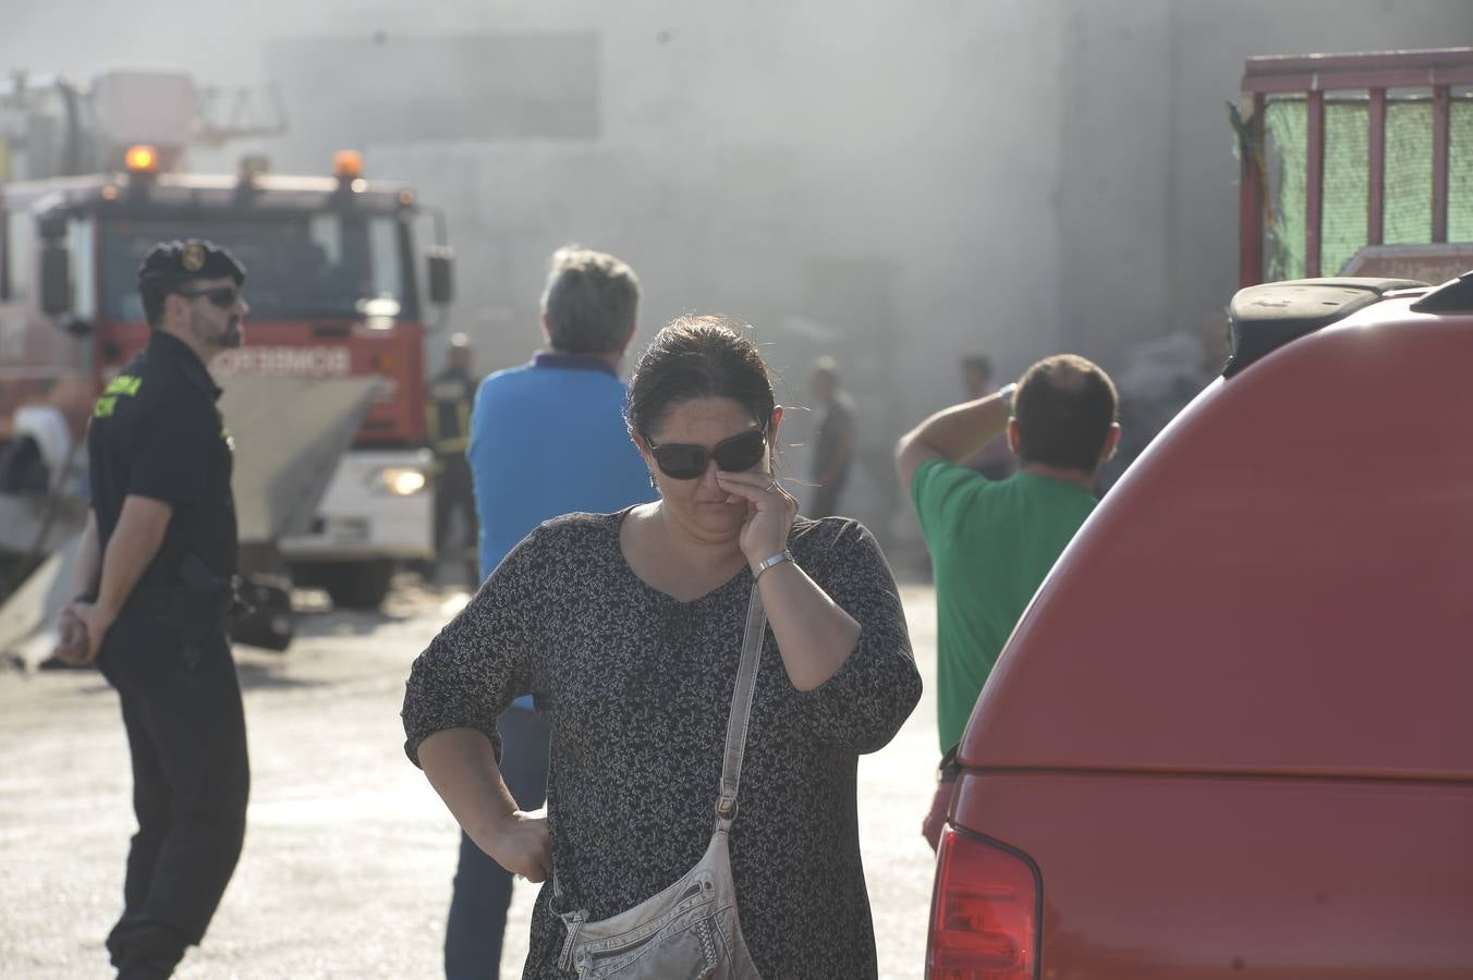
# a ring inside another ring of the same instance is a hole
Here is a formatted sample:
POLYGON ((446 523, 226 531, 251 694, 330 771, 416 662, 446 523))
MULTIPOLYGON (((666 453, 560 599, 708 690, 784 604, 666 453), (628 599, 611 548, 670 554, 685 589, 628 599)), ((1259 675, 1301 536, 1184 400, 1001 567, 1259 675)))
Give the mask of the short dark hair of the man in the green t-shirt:
POLYGON ((1119 396, 1099 365, 1078 355, 1055 355, 1024 372, 1012 408, 1022 462, 1093 472, 1119 396))

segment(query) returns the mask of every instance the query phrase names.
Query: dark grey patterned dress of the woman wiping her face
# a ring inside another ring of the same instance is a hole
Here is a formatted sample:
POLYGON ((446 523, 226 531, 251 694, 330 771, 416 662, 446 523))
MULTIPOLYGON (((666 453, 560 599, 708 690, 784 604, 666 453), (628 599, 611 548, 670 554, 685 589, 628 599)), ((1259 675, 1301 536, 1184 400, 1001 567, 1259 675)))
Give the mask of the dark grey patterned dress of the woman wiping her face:
MULTIPOLYGON (((751 572, 694 602, 638 578, 626 512, 574 514, 523 540, 415 659, 405 749, 452 727, 496 746, 496 715, 532 693, 552 731, 548 820, 564 895, 598 920, 679 878, 704 853, 722 770, 751 572)), ((753 697, 732 874, 763 977, 873 977, 854 777, 921 697, 890 568, 856 521, 794 522, 797 564, 859 621, 859 645, 812 692, 788 681, 767 630, 753 697)), ((563 923, 544 887, 524 977, 561 977, 563 923)))

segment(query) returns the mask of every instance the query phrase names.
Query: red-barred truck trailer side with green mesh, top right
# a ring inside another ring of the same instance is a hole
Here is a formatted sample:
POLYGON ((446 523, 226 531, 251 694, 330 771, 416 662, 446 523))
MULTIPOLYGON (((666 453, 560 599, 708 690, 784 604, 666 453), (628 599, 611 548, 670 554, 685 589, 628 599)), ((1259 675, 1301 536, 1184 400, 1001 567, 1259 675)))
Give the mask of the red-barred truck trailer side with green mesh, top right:
POLYGON ((1239 280, 1473 268, 1473 49, 1252 57, 1239 280))

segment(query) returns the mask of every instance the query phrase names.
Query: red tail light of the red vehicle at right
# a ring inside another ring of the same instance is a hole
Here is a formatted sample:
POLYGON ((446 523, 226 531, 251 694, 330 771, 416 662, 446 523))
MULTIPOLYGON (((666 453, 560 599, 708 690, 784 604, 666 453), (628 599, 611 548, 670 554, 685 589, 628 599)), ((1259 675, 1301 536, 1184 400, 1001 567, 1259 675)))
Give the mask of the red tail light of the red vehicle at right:
POLYGON ((1038 876, 1016 851, 947 827, 937 852, 929 980, 1033 980, 1038 876))

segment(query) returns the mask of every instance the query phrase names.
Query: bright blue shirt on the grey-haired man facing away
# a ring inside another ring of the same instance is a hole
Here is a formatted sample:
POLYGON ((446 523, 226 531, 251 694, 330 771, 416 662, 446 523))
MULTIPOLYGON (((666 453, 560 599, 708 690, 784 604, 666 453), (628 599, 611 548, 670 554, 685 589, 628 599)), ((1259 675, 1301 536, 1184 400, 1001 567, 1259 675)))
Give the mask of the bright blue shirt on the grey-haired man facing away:
POLYGON ((476 483, 480 574, 563 514, 654 499, 625 428, 625 383, 602 358, 539 352, 476 388, 465 459, 476 483))

